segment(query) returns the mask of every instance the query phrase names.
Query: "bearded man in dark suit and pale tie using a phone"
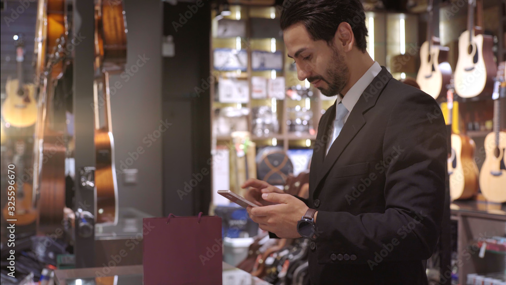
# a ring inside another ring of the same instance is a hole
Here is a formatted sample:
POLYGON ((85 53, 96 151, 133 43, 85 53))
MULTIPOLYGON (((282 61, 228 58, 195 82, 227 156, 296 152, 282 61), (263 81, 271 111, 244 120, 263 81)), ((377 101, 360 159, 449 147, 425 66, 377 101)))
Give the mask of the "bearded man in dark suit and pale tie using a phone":
POLYGON ((339 96, 320 119, 309 198, 248 180, 246 198, 263 206, 251 219, 311 239, 313 284, 427 284, 445 193, 438 104, 371 59, 359 0, 285 1, 281 27, 299 79, 339 96))

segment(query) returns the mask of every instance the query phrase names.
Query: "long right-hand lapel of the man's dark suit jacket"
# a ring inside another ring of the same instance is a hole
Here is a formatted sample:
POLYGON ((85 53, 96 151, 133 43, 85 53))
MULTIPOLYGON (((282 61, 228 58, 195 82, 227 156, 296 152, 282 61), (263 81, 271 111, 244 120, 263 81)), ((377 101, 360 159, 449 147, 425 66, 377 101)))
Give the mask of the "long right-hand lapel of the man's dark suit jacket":
MULTIPOLYGON (((333 142, 327 155, 325 155, 326 144, 315 153, 316 161, 314 161, 314 163, 317 165, 315 169, 316 175, 313 176, 316 178, 316 183, 314 183, 313 187, 311 187, 313 190, 311 191, 313 195, 315 194, 315 190, 318 188, 318 185, 321 183, 323 178, 328 174, 332 166, 335 164, 335 161, 339 158, 339 156, 341 156, 346 146, 348 146, 348 144, 355 137, 355 135, 365 125, 366 121, 364 118, 364 113, 367 112, 367 110, 369 110, 376 104, 376 100, 378 99, 379 94, 383 92, 385 86, 387 85, 387 83, 391 78, 392 74, 390 74, 390 72, 388 72, 385 67, 382 67, 382 70, 378 73, 378 75, 376 75, 376 77, 374 77, 372 82, 369 84, 369 86, 367 86, 364 93, 362 93, 362 95, 358 99, 357 104, 353 107, 353 110, 348 116, 348 119, 346 120, 346 123, 343 126, 343 129, 341 130, 341 133, 339 134, 338 138, 336 138, 335 141, 333 142)), ((335 104, 332 107, 332 111, 335 117, 335 104)), ((325 126, 327 128, 333 128, 333 125, 329 126, 329 120, 333 121, 332 118, 333 117, 331 116, 331 114, 330 116, 327 117, 325 121, 325 126)), ((319 140, 317 139, 317 142, 318 141, 327 142, 331 140, 332 133, 330 132, 330 135, 328 134, 329 134, 328 131, 324 134, 318 134, 319 140), (330 137, 324 138, 324 136, 330 137)), ((311 162, 311 164, 313 164, 313 162, 311 162)), ((311 169, 311 172, 312 171, 313 169, 311 169)))

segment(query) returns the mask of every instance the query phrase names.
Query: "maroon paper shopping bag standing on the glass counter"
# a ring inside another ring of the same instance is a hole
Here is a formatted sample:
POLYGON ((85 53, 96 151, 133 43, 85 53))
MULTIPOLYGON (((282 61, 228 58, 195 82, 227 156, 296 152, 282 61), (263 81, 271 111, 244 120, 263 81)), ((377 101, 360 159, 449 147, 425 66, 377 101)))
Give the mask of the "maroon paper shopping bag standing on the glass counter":
POLYGON ((222 284, 222 220, 201 215, 143 219, 144 285, 222 284))

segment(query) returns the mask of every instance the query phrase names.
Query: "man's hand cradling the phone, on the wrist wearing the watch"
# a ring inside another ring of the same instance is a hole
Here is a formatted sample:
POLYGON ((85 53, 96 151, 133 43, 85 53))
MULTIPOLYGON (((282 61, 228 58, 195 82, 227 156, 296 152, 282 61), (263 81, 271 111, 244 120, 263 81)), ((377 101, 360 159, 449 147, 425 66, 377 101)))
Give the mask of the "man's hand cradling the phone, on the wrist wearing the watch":
POLYGON ((297 223, 309 209, 298 198, 289 194, 263 193, 262 198, 276 205, 248 207, 249 217, 260 228, 275 233, 282 238, 301 237, 297 232, 297 223))

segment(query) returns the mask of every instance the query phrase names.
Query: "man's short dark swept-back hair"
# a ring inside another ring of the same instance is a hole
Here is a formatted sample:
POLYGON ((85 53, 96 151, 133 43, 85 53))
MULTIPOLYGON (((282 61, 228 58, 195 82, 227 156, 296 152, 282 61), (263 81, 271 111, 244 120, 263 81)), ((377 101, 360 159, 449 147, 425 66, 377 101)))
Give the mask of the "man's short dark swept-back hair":
POLYGON ((339 24, 350 24, 355 44, 365 52, 367 48, 365 12, 359 0, 285 0, 281 12, 281 29, 302 23, 313 40, 331 44, 339 24))

